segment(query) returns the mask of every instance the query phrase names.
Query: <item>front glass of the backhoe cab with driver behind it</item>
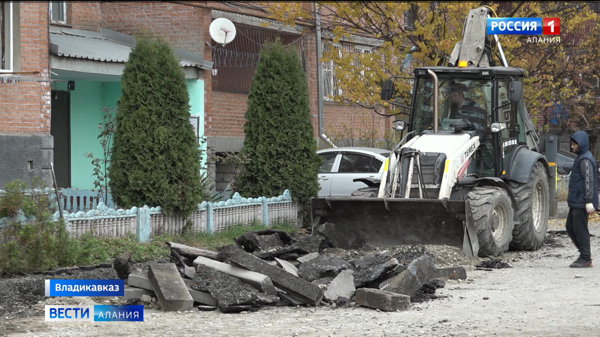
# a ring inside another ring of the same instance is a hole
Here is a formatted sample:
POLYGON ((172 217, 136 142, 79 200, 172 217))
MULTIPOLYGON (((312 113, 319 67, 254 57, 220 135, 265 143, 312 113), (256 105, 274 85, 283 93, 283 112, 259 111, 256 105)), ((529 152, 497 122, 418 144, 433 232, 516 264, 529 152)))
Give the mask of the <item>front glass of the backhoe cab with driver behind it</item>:
MULTIPOLYGON (((491 121, 491 86, 488 79, 467 79, 456 74, 438 74, 438 127, 454 130, 485 130, 491 121), (460 123, 461 124, 461 123, 460 123)), ((419 78, 416 86, 413 130, 421 134, 433 128, 433 79, 419 78)))

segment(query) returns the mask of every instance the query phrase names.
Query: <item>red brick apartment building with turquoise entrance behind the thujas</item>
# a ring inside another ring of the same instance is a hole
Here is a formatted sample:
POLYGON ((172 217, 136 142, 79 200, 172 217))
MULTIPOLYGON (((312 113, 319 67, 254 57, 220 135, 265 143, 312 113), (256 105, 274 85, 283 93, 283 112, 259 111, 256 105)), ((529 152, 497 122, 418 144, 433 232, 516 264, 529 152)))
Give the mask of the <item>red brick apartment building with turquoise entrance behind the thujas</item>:
MULTIPOLYGON (((216 154, 241 149, 257 54, 266 40, 281 37, 298 49, 303 61, 318 138, 316 38, 311 24, 284 27, 266 20, 263 11, 222 2, 1 4, 2 36, 7 37, 2 40, 2 55, 10 61, 0 70, 2 187, 34 175, 50 183, 53 161, 59 187, 92 188, 93 167, 84 154, 101 155, 97 140, 101 109, 116 106, 120 74, 134 46, 132 35, 142 32, 166 38, 175 47, 188 80, 191 114, 199 120, 199 140, 206 137, 209 150, 216 154), (232 20, 238 30, 226 46, 218 46, 209 36, 209 25, 218 17, 232 20), (9 74, 15 72, 19 74, 9 74), (17 77, 19 82, 13 83, 17 77)), ((375 45, 357 38, 340 47, 370 52, 375 45)), ((325 64, 323 69, 325 95, 334 94, 334 68, 325 64)), ((329 137, 365 130, 380 137, 391 122, 369 110, 328 100, 323 106, 329 137)), ((217 189, 224 189, 226 180, 218 181, 217 189)))

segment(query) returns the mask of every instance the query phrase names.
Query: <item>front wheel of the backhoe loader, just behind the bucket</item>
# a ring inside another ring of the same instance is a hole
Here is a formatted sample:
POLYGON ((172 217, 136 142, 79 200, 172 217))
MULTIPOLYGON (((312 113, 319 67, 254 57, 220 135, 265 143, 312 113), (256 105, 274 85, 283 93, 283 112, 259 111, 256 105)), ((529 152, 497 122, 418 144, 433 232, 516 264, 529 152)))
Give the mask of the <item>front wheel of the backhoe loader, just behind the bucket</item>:
POLYGON ((499 187, 475 187, 467 194, 479 241, 479 256, 499 256, 508 250, 514 211, 508 193, 499 187))

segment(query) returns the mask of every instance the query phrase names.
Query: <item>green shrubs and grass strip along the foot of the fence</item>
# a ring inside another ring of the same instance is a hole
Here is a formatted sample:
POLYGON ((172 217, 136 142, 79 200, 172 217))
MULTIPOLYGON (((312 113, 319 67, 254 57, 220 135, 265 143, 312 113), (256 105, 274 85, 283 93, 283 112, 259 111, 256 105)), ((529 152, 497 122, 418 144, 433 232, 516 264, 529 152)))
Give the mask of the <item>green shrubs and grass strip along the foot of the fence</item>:
MULTIPOLYGON (((127 251, 133 252, 132 258, 136 262, 158 260, 170 255, 166 241, 214 251, 233 244, 234 237, 248 230, 266 228, 254 221, 248 225, 233 225, 212 235, 161 234, 144 243, 137 242, 135 235, 98 238, 88 234, 75 239, 65 230, 62 220, 53 221, 53 203, 48 195, 28 193, 27 186, 19 180, 8 183, 5 191, 0 197, 0 219, 4 218, 5 223, 0 231, 0 275, 107 263, 127 251)), ((271 228, 290 234, 298 232, 298 228, 289 222, 277 222, 271 228)))

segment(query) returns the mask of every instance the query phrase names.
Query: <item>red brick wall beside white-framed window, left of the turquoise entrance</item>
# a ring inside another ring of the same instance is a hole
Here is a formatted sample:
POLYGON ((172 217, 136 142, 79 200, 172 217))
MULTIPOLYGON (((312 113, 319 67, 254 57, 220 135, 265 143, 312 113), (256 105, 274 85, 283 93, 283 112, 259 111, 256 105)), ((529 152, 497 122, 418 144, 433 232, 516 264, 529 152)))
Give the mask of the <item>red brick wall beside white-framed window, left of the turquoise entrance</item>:
MULTIPOLYGON (((48 3, 20 3, 19 71, 49 76, 48 3)), ((27 75, 33 77, 33 75, 27 75)), ((0 84, 0 133, 50 133, 50 83, 21 80, 0 84)))

